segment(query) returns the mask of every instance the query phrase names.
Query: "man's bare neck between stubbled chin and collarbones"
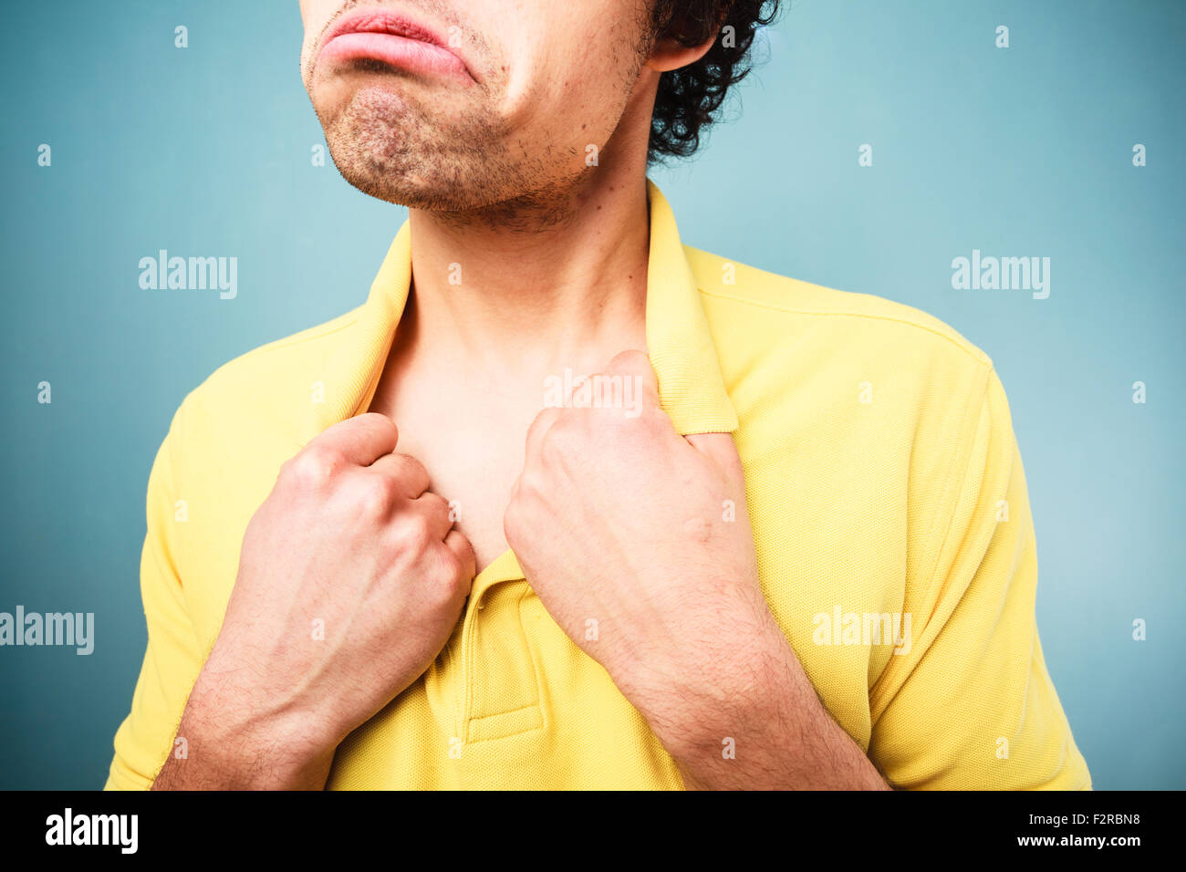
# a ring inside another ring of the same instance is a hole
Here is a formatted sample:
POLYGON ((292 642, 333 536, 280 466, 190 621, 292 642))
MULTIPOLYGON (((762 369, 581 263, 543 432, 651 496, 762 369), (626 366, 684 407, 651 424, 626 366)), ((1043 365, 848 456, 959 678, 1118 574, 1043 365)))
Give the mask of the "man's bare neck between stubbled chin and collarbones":
POLYGON ((617 350, 639 348, 645 173, 589 167, 568 190, 480 214, 413 210, 413 289, 397 346, 498 369, 581 365, 582 350, 614 337, 617 350))

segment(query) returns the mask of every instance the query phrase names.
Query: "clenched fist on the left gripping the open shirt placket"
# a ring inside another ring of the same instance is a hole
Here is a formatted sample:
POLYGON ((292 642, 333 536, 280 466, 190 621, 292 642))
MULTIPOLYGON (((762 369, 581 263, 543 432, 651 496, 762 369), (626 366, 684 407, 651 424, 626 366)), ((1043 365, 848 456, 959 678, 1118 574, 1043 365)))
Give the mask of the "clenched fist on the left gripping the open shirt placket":
POLYGON ((243 537, 203 675, 225 708, 336 746, 432 664, 474 574, 468 541, 389 419, 330 427, 280 470, 243 537))

